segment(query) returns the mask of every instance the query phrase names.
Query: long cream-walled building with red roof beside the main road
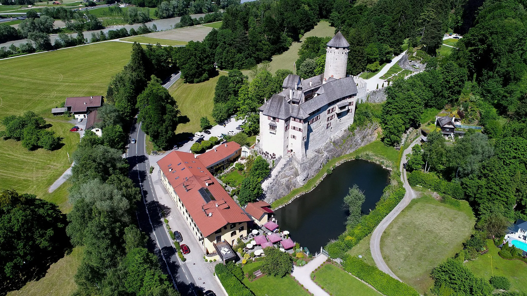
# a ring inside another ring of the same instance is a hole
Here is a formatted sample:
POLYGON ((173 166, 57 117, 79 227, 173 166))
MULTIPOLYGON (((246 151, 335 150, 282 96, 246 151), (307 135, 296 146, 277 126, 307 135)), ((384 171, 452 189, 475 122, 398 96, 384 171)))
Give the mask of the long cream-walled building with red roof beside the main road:
MULTIPOLYGON (((217 250, 230 249, 247 236, 249 216, 207 171, 200 157, 172 151, 161 160, 161 181, 210 259, 225 259, 217 250), (221 246, 217 245, 225 242, 221 246)), ((228 250, 229 251, 229 250, 228 250)), ((232 249, 230 249, 232 252, 232 249)), ((226 255, 226 254, 223 254, 226 255)))

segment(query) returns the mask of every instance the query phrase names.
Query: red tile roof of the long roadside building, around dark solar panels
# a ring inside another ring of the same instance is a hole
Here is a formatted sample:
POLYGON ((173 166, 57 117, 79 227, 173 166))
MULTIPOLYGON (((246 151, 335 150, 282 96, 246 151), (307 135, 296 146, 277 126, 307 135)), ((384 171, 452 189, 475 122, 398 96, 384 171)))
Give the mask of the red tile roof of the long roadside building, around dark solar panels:
POLYGON ((229 223, 251 221, 194 154, 172 151, 158 165, 204 237, 229 223), (203 189, 214 200, 206 202, 203 189))

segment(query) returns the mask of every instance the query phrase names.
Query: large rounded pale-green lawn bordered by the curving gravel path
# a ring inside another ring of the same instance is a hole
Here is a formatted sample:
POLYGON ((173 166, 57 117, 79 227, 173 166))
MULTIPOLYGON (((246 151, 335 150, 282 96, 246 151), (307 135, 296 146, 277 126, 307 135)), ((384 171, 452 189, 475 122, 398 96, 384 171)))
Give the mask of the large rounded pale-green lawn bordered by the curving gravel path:
POLYGON ((475 223, 466 201, 455 208, 419 188, 421 198, 414 199, 388 225, 380 241, 386 264, 419 293, 432 287, 432 268, 455 255, 470 237, 475 223))

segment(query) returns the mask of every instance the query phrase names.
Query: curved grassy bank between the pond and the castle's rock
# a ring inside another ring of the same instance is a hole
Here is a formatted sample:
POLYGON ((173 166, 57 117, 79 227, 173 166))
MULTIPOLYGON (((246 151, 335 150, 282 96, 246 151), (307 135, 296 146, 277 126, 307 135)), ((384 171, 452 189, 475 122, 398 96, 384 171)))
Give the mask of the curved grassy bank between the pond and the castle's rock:
POLYGON ((334 169, 336 166, 350 160, 364 159, 377 163, 383 166, 385 169, 392 171, 394 165, 397 163, 397 159, 399 157, 398 154, 398 151, 393 147, 385 146, 380 140, 377 139, 372 143, 360 147, 352 153, 329 160, 313 178, 307 181, 304 186, 300 186, 299 188, 292 190, 289 194, 273 202, 271 206, 274 210, 277 210, 282 206, 289 204, 299 196, 314 190, 316 186, 322 180, 324 180, 324 177, 326 177, 328 173, 328 169, 334 169))

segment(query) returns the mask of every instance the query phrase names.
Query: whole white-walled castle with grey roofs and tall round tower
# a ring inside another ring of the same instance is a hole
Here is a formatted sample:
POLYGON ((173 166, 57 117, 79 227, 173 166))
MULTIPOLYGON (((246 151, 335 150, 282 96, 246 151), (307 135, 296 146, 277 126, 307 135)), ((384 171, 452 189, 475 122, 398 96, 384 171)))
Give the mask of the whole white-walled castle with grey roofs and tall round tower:
POLYGON ((289 74, 283 90, 260 106, 262 152, 306 159, 353 124, 358 91, 354 77, 346 75, 348 52, 349 43, 338 32, 327 43, 323 74, 304 80, 289 74))

